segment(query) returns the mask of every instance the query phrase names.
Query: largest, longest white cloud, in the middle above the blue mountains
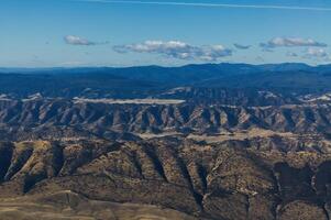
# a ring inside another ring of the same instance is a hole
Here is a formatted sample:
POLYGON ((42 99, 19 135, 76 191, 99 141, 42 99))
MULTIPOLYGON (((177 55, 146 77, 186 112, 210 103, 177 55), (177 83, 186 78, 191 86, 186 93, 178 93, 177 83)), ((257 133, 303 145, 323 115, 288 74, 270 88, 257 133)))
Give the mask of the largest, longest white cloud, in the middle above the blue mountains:
POLYGON ((222 45, 194 46, 180 41, 146 41, 139 44, 118 45, 113 50, 118 53, 153 53, 178 59, 206 62, 216 62, 232 55, 232 51, 222 45))

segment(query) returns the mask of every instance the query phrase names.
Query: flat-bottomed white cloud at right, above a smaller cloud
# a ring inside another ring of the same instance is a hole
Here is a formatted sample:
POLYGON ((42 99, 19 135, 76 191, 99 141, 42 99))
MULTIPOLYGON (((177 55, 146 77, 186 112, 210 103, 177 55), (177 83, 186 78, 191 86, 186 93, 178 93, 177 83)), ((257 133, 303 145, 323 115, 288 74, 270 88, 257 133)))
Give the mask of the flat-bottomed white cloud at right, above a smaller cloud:
POLYGON ((276 47, 297 47, 297 46, 315 46, 315 47, 327 47, 328 45, 321 42, 317 42, 312 38, 301 37, 275 37, 267 43, 261 43, 263 48, 276 48, 276 47))

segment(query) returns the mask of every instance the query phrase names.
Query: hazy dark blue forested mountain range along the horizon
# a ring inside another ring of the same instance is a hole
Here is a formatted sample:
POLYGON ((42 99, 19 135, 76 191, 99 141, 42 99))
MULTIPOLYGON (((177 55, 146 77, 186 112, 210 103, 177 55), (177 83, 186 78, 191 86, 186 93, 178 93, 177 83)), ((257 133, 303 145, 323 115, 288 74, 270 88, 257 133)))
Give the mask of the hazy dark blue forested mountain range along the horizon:
POLYGON ((27 97, 146 98, 177 87, 330 91, 331 65, 205 64, 181 67, 0 68, 0 94, 27 97))

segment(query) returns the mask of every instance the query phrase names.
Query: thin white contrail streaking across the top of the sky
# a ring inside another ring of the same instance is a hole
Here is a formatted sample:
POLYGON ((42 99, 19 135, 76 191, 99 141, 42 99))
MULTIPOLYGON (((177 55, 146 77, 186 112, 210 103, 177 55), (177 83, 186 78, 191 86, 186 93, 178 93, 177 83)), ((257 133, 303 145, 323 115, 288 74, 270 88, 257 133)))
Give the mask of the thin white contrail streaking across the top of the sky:
POLYGON ((301 11, 331 11, 331 8, 319 7, 296 7, 296 6, 267 6, 267 4, 227 4, 227 3, 189 3, 189 2, 166 2, 166 1, 121 1, 121 0, 73 0, 95 3, 118 3, 118 4, 150 4, 150 6, 180 6, 180 7, 203 7, 203 8, 243 8, 243 9, 276 9, 276 10, 301 10, 301 11))

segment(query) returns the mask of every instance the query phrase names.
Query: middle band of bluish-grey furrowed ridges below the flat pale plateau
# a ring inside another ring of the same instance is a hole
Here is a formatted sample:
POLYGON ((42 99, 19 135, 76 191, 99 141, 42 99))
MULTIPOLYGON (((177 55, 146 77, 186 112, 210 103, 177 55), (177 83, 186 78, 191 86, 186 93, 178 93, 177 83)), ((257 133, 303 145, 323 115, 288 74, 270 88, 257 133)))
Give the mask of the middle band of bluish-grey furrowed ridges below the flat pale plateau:
MULTIPOLYGON (((252 129, 330 135, 328 103, 244 107, 121 105, 66 99, 0 101, 2 139, 112 138, 142 133, 219 134, 252 129)), ((134 139, 134 136, 131 136, 134 139)))

